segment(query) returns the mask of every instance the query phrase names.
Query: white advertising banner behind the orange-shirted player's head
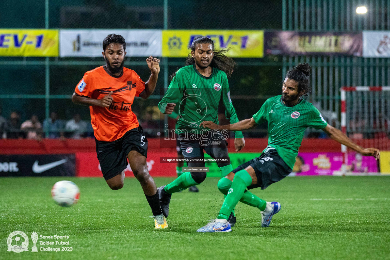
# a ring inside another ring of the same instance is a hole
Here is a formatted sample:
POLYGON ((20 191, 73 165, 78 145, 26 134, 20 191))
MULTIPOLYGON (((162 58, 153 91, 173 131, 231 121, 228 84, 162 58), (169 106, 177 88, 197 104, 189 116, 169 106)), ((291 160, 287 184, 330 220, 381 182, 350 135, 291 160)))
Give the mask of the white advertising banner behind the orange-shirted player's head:
POLYGON ((126 56, 161 57, 161 30, 61 29, 60 57, 102 57, 103 40, 108 34, 120 34, 126 41, 126 56))

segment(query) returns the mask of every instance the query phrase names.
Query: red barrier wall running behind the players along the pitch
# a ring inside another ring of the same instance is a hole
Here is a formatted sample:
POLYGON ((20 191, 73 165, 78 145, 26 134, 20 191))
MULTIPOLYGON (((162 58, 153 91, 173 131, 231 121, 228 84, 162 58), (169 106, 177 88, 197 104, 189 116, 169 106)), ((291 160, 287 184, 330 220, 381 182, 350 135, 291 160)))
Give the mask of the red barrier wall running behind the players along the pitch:
MULTIPOLYGON (((268 143, 265 138, 246 138, 242 152, 261 152, 268 143)), ((160 139, 148 139, 147 165, 151 176, 176 176, 176 164, 160 163, 160 157, 176 157, 176 140, 164 142, 160 139)), ((229 152, 234 151, 234 140, 229 140, 229 152)), ((330 139, 305 139, 300 152, 340 152, 340 145, 330 139)), ((79 177, 102 177, 99 161, 96 157, 94 139, 43 139, 35 140, 0 140, 0 154, 76 154, 76 174, 79 177)), ((131 168, 125 175, 132 177, 131 168)))

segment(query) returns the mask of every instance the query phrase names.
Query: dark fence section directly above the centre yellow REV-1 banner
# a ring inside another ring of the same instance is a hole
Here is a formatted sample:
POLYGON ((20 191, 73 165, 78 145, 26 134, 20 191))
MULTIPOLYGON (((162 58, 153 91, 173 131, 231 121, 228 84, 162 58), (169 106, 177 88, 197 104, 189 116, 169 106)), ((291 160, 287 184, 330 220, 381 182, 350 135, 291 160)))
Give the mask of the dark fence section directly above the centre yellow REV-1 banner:
POLYGON ((170 1, 170 29, 281 29, 282 1, 170 1))

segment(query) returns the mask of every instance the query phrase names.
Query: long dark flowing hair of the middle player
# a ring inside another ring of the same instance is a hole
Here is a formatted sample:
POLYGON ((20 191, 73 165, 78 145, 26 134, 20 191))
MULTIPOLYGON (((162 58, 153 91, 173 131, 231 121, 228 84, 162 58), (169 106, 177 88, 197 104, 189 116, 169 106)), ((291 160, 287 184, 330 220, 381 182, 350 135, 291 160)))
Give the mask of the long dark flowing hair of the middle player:
MULTIPOLYGON (((199 36, 199 37, 196 37, 192 41, 191 51, 195 51, 197 44, 202 44, 202 43, 211 44, 213 46, 214 57, 213 57, 213 60, 211 60, 210 66, 217 68, 217 69, 220 69, 221 71, 226 73, 227 77, 229 78, 232 75, 234 69, 236 68, 236 62, 232 58, 227 57, 223 53, 228 52, 230 50, 230 48, 222 49, 222 50, 215 50, 214 49, 214 42, 212 39, 210 39, 209 37, 206 37, 206 36, 199 36)), ((185 64, 186 64, 186 66, 195 64, 195 58, 192 58, 191 53, 188 55, 188 58, 186 59, 185 64)), ((172 73, 172 75, 170 75, 170 77, 169 77, 170 81, 172 81, 172 79, 176 75, 176 72, 177 72, 177 70, 174 73, 172 73)))

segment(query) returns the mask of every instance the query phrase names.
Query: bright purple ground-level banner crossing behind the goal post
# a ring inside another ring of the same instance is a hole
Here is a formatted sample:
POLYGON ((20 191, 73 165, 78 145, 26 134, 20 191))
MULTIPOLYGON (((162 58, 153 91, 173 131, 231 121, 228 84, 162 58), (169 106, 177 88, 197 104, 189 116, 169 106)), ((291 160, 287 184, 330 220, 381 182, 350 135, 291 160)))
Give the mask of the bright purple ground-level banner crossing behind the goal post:
MULTIPOLYGON (((343 161, 341 152, 298 153, 294 170, 297 175, 333 175, 340 172, 343 161)), ((348 154, 347 171, 352 173, 378 172, 378 164, 372 156, 348 154)))

